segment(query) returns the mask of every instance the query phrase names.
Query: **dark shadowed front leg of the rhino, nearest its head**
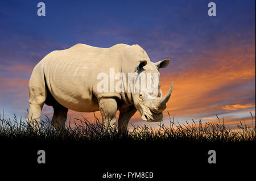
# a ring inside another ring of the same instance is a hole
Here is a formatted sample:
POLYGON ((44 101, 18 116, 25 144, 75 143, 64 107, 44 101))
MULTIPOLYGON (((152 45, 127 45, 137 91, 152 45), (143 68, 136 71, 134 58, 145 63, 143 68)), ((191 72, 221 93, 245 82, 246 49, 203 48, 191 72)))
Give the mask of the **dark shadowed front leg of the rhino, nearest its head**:
POLYGON ((129 120, 136 112, 135 106, 130 106, 126 109, 119 110, 119 118, 118 118, 118 132, 123 133, 127 131, 127 126, 129 123, 129 120))

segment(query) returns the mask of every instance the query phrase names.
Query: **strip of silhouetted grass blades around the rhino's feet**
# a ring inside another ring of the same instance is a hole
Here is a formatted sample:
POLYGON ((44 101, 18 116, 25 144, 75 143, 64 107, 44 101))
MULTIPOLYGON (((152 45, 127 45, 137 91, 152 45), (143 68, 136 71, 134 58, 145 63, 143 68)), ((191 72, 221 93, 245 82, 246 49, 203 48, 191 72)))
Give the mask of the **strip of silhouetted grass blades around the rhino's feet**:
MULTIPOLYGON (((169 115, 170 117, 170 115, 169 115)), ((252 121, 253 115, 251 114, 252 121)), ((96 117, 95 117, 96 118, 96 117)), ((170 125, 159 124, 158 128, 144 125, 139 127, 132 125, 126 133, 118 133, 117 129, 107 129, 97 118, 94 123, 88 121, 85 117, 83 120, 76 119, 75 127, 66 125, 67 133, 58 133, 51 126, 50 120, 41 121, 40 131, 35 133, 22 119, 14 115, 13 121, 5 119, 0 115, 0 141, 27 141, 27 142, 51 142, 53 144, 86 144, 88 142, 189 142, 196 144, 225 144, 255 141, 255 127, 250 127, 240 122, 236 131, 226 129, 224 119, 220 120, 217 116, 217 123, 202 123, 200 120, 196 124, 186 122, 186 124, 175 124, 174 118, 170 117, 170 125)), ((69 121, 70 123, 70 121, 69 121)), ((255 125, 255 124, 254 124, 255 125)))

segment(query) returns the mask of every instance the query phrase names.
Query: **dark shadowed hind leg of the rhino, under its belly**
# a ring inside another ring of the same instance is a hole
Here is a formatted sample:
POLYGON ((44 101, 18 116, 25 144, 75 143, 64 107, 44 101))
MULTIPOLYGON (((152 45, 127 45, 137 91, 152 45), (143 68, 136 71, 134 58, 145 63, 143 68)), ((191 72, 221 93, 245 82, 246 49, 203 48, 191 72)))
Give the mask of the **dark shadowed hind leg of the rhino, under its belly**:
POLYGON ((68 108, 61 106, 60 104, 53 106, 53 116, 51 124, 58 132, 67 132, 65 128, 65 122, 67 120, 68 108))

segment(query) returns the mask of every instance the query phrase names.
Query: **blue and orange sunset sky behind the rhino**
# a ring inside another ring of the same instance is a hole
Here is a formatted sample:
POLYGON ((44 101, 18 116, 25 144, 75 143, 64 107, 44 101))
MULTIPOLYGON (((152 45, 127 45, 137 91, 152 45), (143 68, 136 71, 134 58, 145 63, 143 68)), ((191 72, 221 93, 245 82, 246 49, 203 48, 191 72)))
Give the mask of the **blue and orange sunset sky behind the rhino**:
MULTIPOLYGON (((28 79, 49 52, 77 43, 112 47, 139 44, 152 62, 170 58, 160 70, 167 109, 183 122, 216 121, 233 127, 255 116, 255 1, 0 1, 0 112, 23 120, 28 79), (215 2, 217 16, 208 16, 215 2)), ((43 107, 43 117, 52 116, 43 107)), ((68 117, 92 113, 69 111, 68 117)), ((96 115, 100 115, 97 113, 96 115)), ((1 113, 2 116, 2 113, 1 113)), ((142 124, 137 112, 130 123, 142 124)), ((255 117, 254 117, 255 120, 255 117)), ((168 123, 168 121, 165 121, 168 123)), ((152 124, 155 125, 155 124, 152 124)))

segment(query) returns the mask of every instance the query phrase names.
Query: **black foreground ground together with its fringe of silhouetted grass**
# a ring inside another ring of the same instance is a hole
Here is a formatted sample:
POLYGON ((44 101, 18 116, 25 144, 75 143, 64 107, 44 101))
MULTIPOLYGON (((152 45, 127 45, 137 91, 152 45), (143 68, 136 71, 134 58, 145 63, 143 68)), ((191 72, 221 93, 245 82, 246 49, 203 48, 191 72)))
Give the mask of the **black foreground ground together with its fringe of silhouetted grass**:
POLYGON ((197 127, 160 126, 157 132, 134 127, 125 134, 89 121, 63 134, 47 123, 35 133, 22 121, 0 119, 1 175, 10 180, 118 180, 102 178, 108 172, 126 175, 119 180, 251 180, 247 177, 255 172, 256 128, 242 123, 240 132, 219 120, 197 127), (45 164, 38 163, 38 150, 46 152, 45 164), (208 163, 209 150, 216 151, 215 164, 208 163), (153 178, 127 178, 128 172, 152 172, 153 178))

